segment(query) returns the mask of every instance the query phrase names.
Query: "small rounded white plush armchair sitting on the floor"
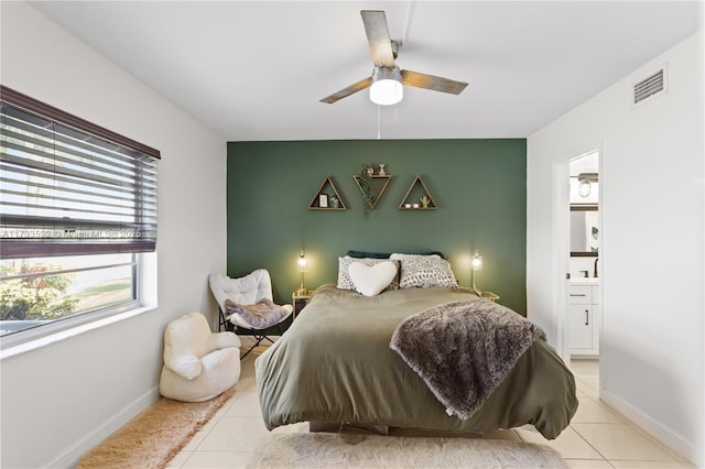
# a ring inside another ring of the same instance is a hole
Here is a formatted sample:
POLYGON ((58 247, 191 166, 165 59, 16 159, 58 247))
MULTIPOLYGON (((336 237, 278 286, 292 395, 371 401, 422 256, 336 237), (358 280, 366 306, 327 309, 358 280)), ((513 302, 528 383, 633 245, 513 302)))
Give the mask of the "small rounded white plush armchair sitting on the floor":
POLYGON ((164 366, 159 391, 164 397, 204 402, 240 379, 240 339, 212 332, 200 313, 172 320, 164 330, 164 366))

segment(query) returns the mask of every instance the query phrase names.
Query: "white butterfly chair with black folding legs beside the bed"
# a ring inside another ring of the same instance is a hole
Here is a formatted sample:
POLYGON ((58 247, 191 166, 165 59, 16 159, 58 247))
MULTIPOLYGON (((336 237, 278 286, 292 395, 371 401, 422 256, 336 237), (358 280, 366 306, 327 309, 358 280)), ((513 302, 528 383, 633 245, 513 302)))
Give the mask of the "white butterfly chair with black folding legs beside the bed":
MULTIPOLYGON (((223 328, 234 331, 237 331, 238 329, 246 329, 250 331, 250 335, 254 338, 254 345, 250 347, 241 358, 245 358, 264 339, 274 343, 272 339, 263 334, 265 329, 258 329, 253 327, 238 314, 234 314, 228 317, 225 305, 227 299, 240 305, 254 305, 264 298, 272 301, 272 280, 267 269, 258 269, 248 275, 237 279, 231 279, 223 274, 210 274, 208 283, 210 284, 213 296, 215 296, 216 302, 218 302, 218 306, 220 307, 220 325, 218 330, 221 330, 223 328)), ((292 305, 282 305, 282 308, 285 309, 286 314, 275 324, 268 326, 268 329, 286 320, 294 310, 292 305)))

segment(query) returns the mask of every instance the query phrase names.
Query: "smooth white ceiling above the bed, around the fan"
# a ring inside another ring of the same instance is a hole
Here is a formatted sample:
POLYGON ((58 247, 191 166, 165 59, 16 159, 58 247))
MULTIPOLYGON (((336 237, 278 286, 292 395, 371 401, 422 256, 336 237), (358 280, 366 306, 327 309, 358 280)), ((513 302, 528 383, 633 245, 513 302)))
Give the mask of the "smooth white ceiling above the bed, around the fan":
POLYGON ((523 138, 702 28, 702 1, 46 1, 74 35, 228 141, 376 139, 359 11, 386 10, 405 87, 383 139, 523 138))

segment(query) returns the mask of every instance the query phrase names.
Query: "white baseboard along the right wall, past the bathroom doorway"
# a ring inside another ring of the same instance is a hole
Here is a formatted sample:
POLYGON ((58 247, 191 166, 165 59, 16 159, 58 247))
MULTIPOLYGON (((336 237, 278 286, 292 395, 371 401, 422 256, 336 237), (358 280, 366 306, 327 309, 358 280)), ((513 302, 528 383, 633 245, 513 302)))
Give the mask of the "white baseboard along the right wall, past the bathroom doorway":
POLYGON ((696 467, 705 467, 705 455, 703 448, 696 443, 688 441, 682 435, 665 427, 661 422, 655 421, 652 416, 644 414, 639 408, 629 404, 621 397, 610 393, 607 390, 600 390, 599 396, 603 401, 621 412, 637 424, 642 430, 668 446, 673 451, 694 463, 696 467))

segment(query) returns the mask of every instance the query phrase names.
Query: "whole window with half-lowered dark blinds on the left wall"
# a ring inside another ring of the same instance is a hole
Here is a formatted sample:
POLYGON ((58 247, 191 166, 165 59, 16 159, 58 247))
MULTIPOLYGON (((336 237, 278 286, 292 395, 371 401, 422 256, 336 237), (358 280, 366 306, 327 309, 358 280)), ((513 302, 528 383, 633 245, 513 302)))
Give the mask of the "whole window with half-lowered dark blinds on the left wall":
POLYGON ((159 151, 0 86, 0 337, 139 305, 159 151))

